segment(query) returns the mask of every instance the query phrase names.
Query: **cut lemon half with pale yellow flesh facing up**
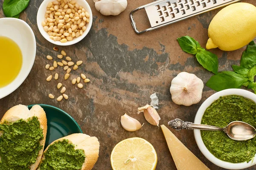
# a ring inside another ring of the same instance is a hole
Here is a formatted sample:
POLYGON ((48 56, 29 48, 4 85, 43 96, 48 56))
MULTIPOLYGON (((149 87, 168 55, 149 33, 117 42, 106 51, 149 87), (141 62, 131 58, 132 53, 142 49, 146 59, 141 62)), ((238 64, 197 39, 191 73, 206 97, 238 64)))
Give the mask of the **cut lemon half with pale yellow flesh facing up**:
POLYGON ((128 138, 111 153, 113 170, 155 170, 157 153, 151 143, 142 138, 128 138))

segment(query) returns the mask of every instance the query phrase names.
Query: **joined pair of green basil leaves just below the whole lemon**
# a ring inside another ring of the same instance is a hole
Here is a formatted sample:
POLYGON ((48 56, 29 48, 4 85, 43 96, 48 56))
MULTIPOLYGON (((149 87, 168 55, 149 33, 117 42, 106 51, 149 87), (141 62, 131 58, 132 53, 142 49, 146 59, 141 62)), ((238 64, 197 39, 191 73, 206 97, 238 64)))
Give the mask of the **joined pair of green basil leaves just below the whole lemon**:
POLYGON ((198 41, 189 36, 177 38, 180 48, 189 53, 194 54, 198 62, 208 71, 218 73, 218 57, 201 47, 198 41))

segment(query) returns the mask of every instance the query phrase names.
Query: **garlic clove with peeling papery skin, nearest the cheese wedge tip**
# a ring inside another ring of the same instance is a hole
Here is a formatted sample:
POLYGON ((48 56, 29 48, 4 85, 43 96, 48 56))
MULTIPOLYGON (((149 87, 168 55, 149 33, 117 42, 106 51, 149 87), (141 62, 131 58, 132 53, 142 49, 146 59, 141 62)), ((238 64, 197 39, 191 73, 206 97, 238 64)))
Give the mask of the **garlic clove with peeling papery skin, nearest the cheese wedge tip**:
POLYGON ((144 113, 144 117, 148 121, 148 123, 155 126, 159 125, 159 121, 161 118, 153 107, 151 107, 150 105, 145 105, 141 108, 138 108, 138 114, 140 112, 144 113))

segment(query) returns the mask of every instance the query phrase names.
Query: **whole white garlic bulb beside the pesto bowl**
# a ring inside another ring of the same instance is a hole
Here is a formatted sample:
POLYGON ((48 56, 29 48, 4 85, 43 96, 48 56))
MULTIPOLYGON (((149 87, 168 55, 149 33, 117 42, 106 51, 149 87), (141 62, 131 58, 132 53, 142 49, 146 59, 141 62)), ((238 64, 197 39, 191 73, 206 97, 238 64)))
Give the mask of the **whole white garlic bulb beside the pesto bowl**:
POLYGON ((177 105, 190 106, 202 98, 204 83, 195 74, 181 72, 172 79, 170 92, 177 105))

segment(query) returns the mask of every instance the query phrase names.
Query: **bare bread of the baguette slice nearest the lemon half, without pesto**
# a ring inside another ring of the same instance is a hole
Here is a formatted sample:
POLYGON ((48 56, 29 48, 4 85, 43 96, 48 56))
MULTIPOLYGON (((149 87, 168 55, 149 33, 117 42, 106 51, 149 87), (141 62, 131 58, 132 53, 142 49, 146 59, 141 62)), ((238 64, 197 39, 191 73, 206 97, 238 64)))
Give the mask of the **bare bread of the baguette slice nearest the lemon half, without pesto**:
MULTIPOLYGON (((99 157, 98 139, 94 136, 91 137, 83 133, 74 133, 53 141, 51 144, 49 144, 49 146, 54 144, 55 142, 62 141, 63 139, 67 139, 70 143, 74 144, 75 149, 84 150, 85 160, 81 170, 91 170, 99 157)), ((47 152, 49 146, 44 150, 44 153, 47 152)), ((44 159, 45 158, 43 154, 41 162, 44 159)), ((40 166, 38 167, 38 170, 40 170, 40 166)))

